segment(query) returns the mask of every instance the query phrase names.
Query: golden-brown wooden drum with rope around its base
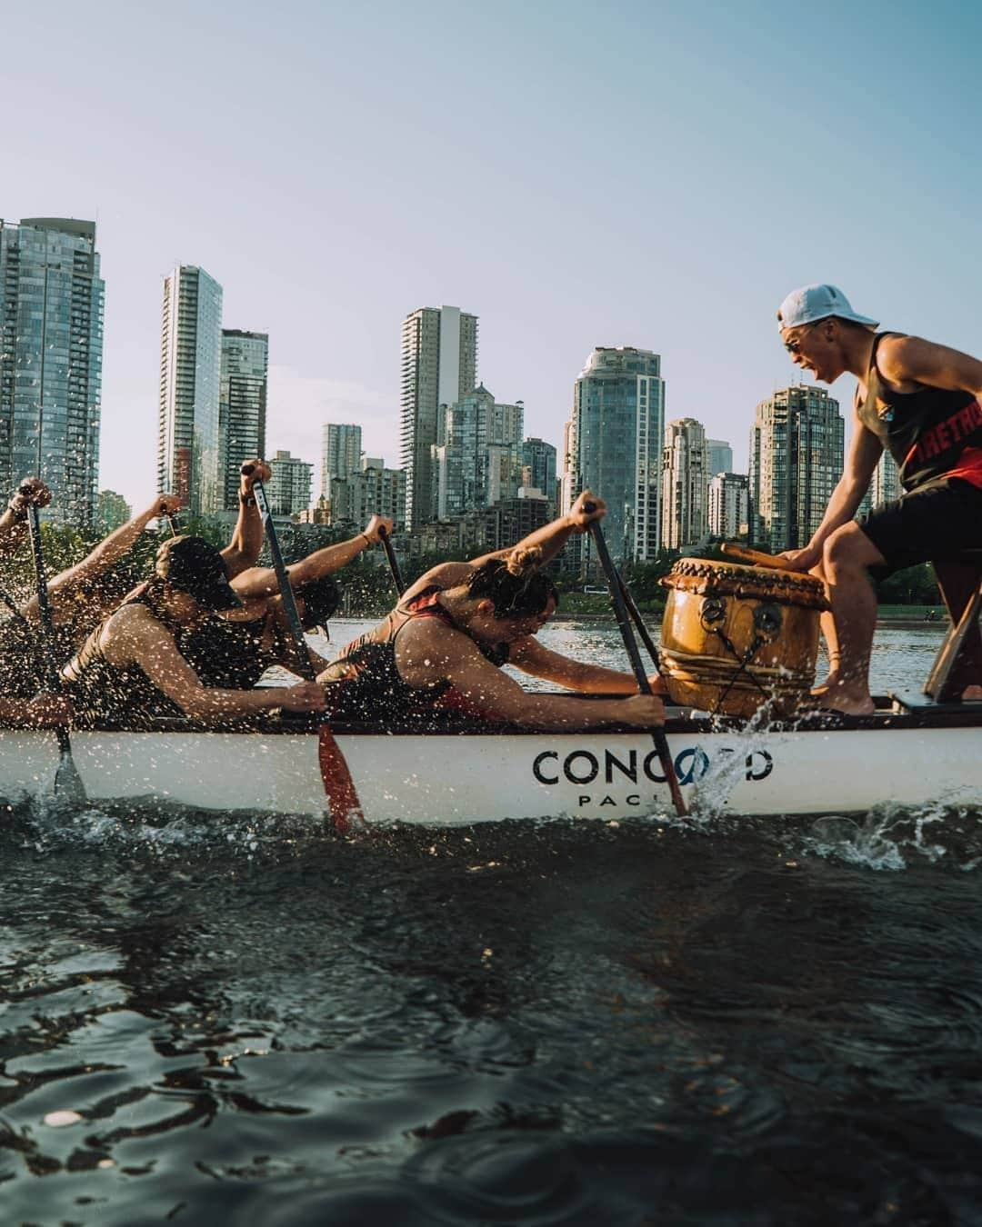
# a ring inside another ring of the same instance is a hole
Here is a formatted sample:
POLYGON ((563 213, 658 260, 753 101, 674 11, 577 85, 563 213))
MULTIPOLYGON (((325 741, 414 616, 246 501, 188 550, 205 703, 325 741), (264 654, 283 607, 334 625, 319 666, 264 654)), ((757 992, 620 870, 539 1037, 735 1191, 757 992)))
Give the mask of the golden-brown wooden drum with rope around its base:
POLYGON ((797 571, 680 558, 669 589, 662 671, 675 703, 754 715, 792 714, 809 696, 819 653, 820 579, 797 571))

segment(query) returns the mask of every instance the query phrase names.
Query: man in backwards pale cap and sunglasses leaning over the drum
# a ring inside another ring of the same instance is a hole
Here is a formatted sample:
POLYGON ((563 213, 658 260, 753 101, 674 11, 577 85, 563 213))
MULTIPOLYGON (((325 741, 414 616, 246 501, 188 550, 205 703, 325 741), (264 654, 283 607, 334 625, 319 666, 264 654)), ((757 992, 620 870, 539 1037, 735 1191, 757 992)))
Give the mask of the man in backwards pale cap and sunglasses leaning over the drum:
MULTIPOLYGON (((836 286, 792 291, 777 313, 794 364, 822 383, 856 375, 854 434, 825 518, 803 550, 781 555, 827 587, 825 707, 865 714, 876 598, 869 582, 919 562, 956 563, 982 548, 982 362, 905 333, 878 331, 836 286), (853 520, 884 448, 903 493, 853 520)), ((971 686, 965 698, 982 698, 971 686)))

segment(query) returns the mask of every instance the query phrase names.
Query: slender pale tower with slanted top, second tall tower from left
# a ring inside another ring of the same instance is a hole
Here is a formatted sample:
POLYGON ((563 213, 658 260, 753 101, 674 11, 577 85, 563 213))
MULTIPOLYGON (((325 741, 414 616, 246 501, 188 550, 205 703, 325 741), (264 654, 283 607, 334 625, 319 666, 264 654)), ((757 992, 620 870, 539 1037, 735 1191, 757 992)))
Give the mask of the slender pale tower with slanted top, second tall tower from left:
POLYGON ((218 398, 222 287, 182 264, 164 279, 157 490, 179 494, 195 514, 221 509, 218 398))

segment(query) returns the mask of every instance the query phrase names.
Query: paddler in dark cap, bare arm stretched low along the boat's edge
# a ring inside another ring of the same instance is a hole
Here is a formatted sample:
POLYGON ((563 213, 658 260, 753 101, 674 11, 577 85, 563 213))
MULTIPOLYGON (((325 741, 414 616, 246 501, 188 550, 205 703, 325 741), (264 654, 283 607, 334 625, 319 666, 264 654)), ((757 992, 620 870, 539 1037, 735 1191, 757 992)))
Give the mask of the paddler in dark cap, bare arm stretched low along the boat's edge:
POLYGON ((182 649, 212 614, 239 606, 222 556, 201 537, 174 536, 157 551, 155 571, 61 670, 76 715, 139 728, 182 714, 214 721, 280 707, 323 709, 323 691, 313 682, 263 690, 204 686, 182 649))

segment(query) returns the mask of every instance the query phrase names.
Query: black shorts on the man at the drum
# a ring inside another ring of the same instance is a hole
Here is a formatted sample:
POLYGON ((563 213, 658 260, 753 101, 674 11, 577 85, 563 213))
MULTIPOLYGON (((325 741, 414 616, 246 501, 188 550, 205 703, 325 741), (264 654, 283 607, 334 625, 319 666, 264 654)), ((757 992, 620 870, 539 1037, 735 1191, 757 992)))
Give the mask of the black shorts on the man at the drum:
POLYGON ((951 562, 982 550, 982 490, 961 477, 937 477, 874 507, 859 528, 886 560, 869 568, 878 579, 918 562, 951 562))

